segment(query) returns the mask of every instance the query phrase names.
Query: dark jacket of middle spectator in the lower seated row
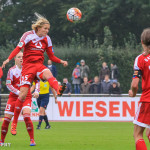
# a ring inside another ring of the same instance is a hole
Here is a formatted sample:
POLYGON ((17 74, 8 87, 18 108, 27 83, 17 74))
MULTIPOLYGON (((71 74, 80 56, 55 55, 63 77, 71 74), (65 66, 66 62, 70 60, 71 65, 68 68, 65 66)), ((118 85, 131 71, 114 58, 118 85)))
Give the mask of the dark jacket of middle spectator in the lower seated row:
POLYGON ((101 83, 92 83, 90 87, 91 94, 100 94, 101 93, 101 83))

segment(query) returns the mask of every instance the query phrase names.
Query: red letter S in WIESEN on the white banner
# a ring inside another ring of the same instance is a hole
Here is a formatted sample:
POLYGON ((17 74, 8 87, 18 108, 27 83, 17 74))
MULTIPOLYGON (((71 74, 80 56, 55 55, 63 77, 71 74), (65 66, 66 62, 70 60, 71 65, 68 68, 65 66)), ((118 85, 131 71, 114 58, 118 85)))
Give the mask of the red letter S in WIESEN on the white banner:
POLYGON ((99 111, 101 111, 101 112, 96 112, 96 115, 98 117, 104 117, 107 114, 107 110, 103 106, 106 106, 106 103, 104 101, 98 101, 96 103, 96 109, 98 109, 99 111))

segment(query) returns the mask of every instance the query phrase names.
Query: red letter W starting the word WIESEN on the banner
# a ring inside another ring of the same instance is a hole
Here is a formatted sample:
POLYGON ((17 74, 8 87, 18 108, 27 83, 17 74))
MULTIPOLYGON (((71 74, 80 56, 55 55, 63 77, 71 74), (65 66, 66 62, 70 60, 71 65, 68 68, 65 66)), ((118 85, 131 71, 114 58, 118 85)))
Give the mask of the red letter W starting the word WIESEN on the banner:
POLYGON ((73 110, 74 102, 70 101, 70 106, 68 106, 68 102, 67 101, 64 101, 63 106, 61 104, 62 104, 62 102, 59 101, 58 102, 58 109, 59 109, 60 116, 61 117, 64 116, 65 112, 66 112, 67 116, 71 116, 72 115, 72 110, 73 110))

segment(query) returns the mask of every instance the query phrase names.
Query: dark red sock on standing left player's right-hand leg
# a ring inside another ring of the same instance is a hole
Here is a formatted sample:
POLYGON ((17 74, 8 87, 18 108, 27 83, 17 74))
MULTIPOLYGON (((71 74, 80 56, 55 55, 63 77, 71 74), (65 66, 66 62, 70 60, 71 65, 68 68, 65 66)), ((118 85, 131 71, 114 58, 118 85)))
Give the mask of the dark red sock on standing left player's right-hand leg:
POLYGON ((27 131, 30 136, 30 140, 34 139, 34 129, 33 129, 33 123, 30 118, 30 114, 28 114, 28 113, 23 114, 23 118, 24 118, 24 122, 26 124, 27 131))

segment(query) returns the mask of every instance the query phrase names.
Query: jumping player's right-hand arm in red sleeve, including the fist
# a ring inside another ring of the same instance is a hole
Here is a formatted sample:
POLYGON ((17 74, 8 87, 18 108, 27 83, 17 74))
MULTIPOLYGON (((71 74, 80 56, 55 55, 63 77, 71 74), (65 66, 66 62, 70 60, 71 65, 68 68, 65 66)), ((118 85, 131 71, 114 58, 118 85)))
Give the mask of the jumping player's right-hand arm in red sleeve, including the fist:
POLYGON ((46 49, 46 53, 47 53, 47 55, 48 55, 48 57, 49 57, 49 59, 50 59, 51 61, 53 61, 53 62, 55 62, 55 63, 61 63, 61 64, 63 64, 64 66, 68 66, 68 62, 67 62, 67 61, 61 60, 61 59, 59 59, 58 57, 56 57, 56 56, 54 55, 54 52, 53 52, 53 50, 52 50, 52 46, 50 46, 50 47, 48 47, 48 48, 46 49))

